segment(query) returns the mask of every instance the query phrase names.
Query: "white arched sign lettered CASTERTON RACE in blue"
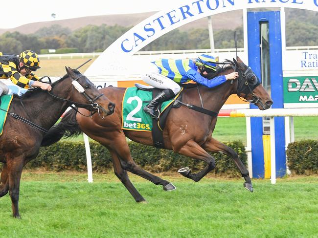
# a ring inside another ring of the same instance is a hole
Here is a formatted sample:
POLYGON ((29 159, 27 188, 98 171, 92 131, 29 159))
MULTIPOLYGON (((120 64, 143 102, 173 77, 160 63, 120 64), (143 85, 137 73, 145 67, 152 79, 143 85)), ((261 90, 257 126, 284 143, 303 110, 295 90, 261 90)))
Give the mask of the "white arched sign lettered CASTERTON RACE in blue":
MULTIPOLYGON (((211 15, 248 8, 288 7, 318 11, 318 0, 182 0, 171 1, 110 45, 86 70, 87 76, 130 74, 132 55, 160 36, 211 15)), ((135 68, 142 69, 142 65, 135 68)), ((139 70, 138 70, 139 71, 139 70)))

